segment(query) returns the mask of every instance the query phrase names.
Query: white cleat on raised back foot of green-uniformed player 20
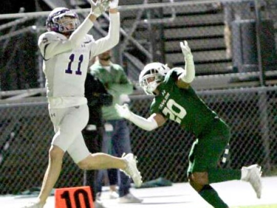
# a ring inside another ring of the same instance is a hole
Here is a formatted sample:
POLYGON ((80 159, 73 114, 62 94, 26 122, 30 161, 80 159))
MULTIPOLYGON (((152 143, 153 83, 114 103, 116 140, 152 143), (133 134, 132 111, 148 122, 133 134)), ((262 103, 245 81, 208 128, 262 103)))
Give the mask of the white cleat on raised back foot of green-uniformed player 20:
POLYGON ((255 164, 252 166, 243 167, 242 175, 242 180, 250 182, 251 186, 256 192, 257 198, 260 199, 262 194, 261 166, 255 164))

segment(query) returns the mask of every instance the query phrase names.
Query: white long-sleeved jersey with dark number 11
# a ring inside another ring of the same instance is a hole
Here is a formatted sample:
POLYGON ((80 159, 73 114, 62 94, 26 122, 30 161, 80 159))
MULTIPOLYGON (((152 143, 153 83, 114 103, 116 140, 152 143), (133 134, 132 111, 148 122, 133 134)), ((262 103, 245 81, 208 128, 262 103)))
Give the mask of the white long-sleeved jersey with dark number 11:
POLYGON ((106 37, 94 40, 86 34, 92 27, 86 19, 74 32, 74 37, 56 32, 39 36, 38 46, 44 57, 47 98, 50 108, 65 108, 87 103, 85 79, 91 57, 101 54, 118 43, 119 13, 110 14, 110 29, 106 37), (86 33, 84 34, 84 31, 86 33))

